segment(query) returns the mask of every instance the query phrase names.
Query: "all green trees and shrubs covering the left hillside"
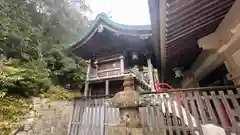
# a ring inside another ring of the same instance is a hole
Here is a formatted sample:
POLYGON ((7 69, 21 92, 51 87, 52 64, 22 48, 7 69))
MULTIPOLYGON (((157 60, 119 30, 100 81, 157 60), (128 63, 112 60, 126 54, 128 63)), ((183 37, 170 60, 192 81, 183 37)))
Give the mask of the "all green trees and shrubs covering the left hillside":
POLYGON ((84 0, 0 0, 0 135, 31 110, 25 97, 68 100, 63 87, 81 87, 86 63, 64 49, 86 30, 87 10, 84 0))

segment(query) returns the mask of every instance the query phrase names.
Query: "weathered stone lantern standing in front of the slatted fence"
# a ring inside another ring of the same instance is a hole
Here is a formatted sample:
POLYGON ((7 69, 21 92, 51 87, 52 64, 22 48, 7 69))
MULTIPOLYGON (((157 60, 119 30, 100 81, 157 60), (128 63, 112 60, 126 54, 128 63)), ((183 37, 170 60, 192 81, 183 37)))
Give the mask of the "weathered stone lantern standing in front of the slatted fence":
POLYGON ((143 135, 140 123, 139 93, 133 90, 133 78, 124 78, 124 91, 118 92, 112 99, 112 107, 120 109, 120 124, 108 127, 108 135, 143 135))

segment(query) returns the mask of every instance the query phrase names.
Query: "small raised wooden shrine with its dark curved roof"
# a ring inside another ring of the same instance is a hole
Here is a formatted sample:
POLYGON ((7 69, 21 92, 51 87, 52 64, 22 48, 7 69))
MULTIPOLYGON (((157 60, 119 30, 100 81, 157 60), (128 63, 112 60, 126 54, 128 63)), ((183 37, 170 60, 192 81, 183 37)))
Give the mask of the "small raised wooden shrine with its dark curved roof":
MULTIPOLYGON (((109 94, 109 90, 106 89, 116 83, 112 81, 122 81, 133 67, 137 67, 138 70, 148 67, 145 72, 150 80, 149 87, 152 86, 152 90, 154 89, 152 68, 159 67, 160 62, 157 60, 159 51, 153 43, 150 25, 118 24, 111 21, 106 14, 101 13, 92 21, 85 36, 73 44, 70 50, 75 56, 89 61, 85 96, 92 95, 89 89, 95 87, 98 89, 95 90, 98 91, 94 93, 95 95, 109 94), (109 84, 109 81, 112 83, 109 84), (102 82, 106 82, 103 84, 105 90, 100 92, 102 82)), ((121 88, 122 82, 118 84, 121 88)))

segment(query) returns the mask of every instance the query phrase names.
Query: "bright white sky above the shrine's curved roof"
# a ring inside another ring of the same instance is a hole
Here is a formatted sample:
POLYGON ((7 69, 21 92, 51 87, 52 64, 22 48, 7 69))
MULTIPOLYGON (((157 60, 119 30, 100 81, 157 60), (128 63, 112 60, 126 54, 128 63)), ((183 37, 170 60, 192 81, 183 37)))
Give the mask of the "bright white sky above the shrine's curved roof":
POLYGON ((111 20, 128 25, 150 24, 147 0, 90 0, 92 15, 90 19, 101 13, 110 12, 111 20))

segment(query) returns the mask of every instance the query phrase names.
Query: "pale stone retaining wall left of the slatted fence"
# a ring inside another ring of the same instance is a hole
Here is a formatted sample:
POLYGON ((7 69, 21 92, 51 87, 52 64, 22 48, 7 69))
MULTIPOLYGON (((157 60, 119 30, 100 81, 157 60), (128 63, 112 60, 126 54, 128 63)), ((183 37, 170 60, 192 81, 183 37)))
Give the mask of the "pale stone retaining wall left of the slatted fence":
POLYGON ((71 101, 48 101, 34 98, 34 111, 21 122, 15 135, 67 135, 71 101))

